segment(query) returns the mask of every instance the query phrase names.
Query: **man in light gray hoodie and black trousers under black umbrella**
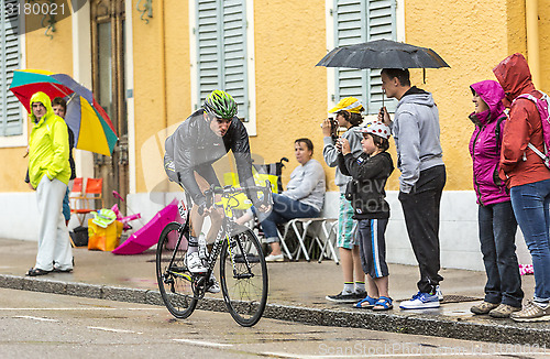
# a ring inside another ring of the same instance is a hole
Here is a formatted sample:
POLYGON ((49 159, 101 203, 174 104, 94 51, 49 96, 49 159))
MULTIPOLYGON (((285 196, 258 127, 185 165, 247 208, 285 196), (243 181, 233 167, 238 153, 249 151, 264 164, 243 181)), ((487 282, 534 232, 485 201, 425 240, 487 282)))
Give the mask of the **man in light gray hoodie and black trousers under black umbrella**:
POLYGON ((382 70, 382 88, 399 100, 394 121, 383 108, 378 119, 393 131, 397 150, 399 202, 420 269, 419 292, 400 303, 403 309, 439 307, 439 211, 446 184, 439 111, 431 94, 410 86, 408 69, 382 70))

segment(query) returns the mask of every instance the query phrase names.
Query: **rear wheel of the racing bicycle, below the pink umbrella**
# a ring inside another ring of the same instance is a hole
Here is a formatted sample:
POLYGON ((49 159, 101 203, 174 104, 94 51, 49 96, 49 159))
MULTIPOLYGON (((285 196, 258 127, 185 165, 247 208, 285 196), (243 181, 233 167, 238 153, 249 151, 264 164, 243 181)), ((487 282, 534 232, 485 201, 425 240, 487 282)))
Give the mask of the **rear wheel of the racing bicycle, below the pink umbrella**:
POLYGON ((176 318, 187 318, 197 306, 193 293, 193 276, 184 259, 187 253, 187 239, 176 246, 184 236, 184 227, 172 222, 164 227, 156 248, 156 281, 164 305, 176 318), (174 258, 174 260, 172 260, 174 258))

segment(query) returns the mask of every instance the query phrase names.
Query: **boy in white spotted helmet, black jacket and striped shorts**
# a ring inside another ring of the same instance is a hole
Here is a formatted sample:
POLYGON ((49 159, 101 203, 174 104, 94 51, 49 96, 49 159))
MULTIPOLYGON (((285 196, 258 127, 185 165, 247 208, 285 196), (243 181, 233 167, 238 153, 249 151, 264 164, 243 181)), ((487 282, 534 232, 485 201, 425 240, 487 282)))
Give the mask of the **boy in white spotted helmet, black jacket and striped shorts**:
POLYGON ((359 130, 363 153, 354 156, 350 143, 342 140, 342 154, 338 166, 352 181, 345 189, 345 197, 351 200, 354 215, 359 220, 358 239, 363 271, 370 276, 369 295, 358 302, 356 308, 387 311, 393 308, 388 295, 388 268, 386 263, 385 231, 389 218, 389 205, 384 199, 384 187, 394 171, 389 148, 391 130, 380 121, 367 123, 359 130), (372 279, 372 280, 371 280, 372 279))

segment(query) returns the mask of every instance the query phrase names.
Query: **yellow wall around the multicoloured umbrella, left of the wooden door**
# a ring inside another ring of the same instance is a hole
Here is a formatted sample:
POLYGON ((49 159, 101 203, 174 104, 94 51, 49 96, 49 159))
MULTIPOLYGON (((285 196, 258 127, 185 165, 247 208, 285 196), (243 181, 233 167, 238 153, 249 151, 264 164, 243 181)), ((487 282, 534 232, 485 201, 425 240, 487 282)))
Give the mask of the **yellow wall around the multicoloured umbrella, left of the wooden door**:
MULTIPOLYGON (((36 29, 36 23, 42 17, 28 15, 25 18, 26 29, 36 29)), ((47 69, 54 73, 73 73, 73 37, 70 18, 56 23, 56 32, 51 39, 44 35, 45 29, 38 29, 25 34, 26 68, 47 69)), ((29 126, 29 134, 31 126, 29 126)), ((0 149, 0 192, 25 192, 31 191, 24 183, 29 159, 23 159, 26 146, 0 149)))

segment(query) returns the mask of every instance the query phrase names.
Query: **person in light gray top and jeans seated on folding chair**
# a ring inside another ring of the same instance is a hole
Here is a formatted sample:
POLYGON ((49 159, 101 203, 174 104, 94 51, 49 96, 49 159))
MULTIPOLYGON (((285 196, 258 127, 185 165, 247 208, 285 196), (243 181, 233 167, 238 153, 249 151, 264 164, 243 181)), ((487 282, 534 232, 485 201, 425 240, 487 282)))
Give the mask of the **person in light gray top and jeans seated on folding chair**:
MULTIPOLYGON (((265 258, 268 262, 284 260, 277 236, 277 225, 295 218, 319 217, 324 202, 324 171, 322 165, 311 159, 314 143, 309 139, 298 139, 294 143, 296 160, 300 164, 290 174, 286 191, 273 194, 273 209, 270 214, 258 214, 265 241, 272 252, 265 258)), ((255 213, 255 208, 252 207, 255 213)), ((244 215, 237 220, 243 224, 251 217, 244 215)))

